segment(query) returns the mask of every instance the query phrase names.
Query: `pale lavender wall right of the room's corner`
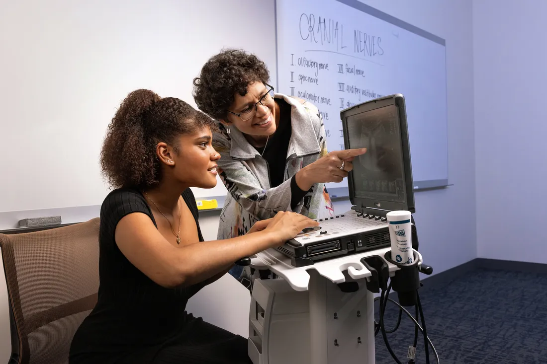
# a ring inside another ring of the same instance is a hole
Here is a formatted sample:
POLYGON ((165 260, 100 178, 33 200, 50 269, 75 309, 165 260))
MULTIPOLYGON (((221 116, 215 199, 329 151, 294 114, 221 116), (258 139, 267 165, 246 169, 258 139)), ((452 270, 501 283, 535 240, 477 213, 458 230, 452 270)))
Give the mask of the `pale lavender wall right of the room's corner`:
POLYGON ((547 263, 545 14, 545 1, 473 2, 479 257, 547 263))

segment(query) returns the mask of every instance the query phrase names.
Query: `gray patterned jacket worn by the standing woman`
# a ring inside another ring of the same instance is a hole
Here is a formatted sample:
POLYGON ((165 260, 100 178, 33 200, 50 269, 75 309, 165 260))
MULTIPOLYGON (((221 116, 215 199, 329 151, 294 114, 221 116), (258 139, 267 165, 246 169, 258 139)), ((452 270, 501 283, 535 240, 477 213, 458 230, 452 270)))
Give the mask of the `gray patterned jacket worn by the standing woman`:
MULTIPOLYGON (((220 153, 218 172, 228 195, 220 214, 218 239, 245 234, 257 220, 272 218, 279 211, 291 211, 290 179, 303 167, 327 154, 327 139, 319 110, 310 102, 276 93, 291 108, 292 134, 287 150, 284 182, 270 186, 267 162, 247 142, 243 133, 219 124, 213 146, 220 153)), ((334 215, 333 204, 324 184, 312 186, 294 212, 312 219, 334 215)))

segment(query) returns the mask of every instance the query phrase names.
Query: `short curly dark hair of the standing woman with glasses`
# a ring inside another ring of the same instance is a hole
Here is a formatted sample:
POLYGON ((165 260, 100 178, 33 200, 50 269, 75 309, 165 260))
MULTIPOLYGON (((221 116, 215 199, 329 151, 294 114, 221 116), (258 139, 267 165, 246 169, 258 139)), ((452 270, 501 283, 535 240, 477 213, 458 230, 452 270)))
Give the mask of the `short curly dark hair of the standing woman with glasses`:
POLYGON ((270 72, 257 56, 226 49, 211 57, 201 68, 200 77, 194 79, 194 100, 211 118, 226 119, 236 92, 245 96, 249 83, 265 84, 269 79, 270 72))

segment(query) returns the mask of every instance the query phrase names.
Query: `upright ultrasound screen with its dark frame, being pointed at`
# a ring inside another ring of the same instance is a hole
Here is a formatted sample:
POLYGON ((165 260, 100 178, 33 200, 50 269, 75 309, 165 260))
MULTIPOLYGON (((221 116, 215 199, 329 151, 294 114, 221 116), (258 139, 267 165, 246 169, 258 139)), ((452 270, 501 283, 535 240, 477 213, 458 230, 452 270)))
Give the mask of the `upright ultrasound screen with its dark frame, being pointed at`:
POLYGON ((404 96, 354 105, 340 113, 345 149, 367 148, 348 174, 350 201, 362 212, 415 212, 404 96))

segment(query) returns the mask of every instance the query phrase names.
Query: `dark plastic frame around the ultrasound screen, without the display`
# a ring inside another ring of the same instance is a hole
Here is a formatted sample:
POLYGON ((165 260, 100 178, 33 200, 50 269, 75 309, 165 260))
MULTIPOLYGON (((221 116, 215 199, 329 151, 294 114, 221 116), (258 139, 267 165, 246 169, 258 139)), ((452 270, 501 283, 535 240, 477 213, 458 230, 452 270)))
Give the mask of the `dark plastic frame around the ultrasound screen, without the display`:
POLYGON ((347 177, 350 201, 356 208, 356 210, 367 214, 375 214, 377 216, 385 216, 388 212, 397 210, 406 210, 411 213, 416 212, 414 203, 414 181, 412 180, 412 161, 410 157, 410 141, 408 133, 408 122, 406 120, 405 98, 400 93, 397 93, 394 95, 371 99, 369 101, 359 103, 340 111, 340 120, 342 120, 342 130, 344 134, 344 148, 351 149, 350 142, 347 136, 346 118, 348 116, 353 116, 366 111, 383 108, 389 105, 395 105, 397 107, 397 119, 399 121, 399 130, 401 134, 401 150, 403 152, 403 179, 406 189, 406 201, 403 203, 399 203, 392 201, 382 201, 381 199, 377 198, 356 197, 353 185, 353 173, 349 172, 347 177))

